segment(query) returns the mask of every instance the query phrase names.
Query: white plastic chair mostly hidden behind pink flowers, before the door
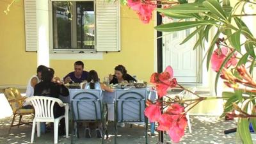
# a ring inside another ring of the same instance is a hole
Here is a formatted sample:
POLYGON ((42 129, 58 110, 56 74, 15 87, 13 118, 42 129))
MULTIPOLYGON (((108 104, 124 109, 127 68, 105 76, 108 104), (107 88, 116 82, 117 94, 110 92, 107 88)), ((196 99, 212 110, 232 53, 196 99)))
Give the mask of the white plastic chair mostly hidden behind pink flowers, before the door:
MULTIPOLYGON (((188 90, 190 90, 191 92, 195 93, 196 92, 196 87, 193 87, 193 88, 188 88, 188 90)), ((193 99, 195 98, 195 95, 193 95, 193 93, 189 93, 188 91, 186 90, 183 90, 182 92, 180 92, 178 95, 181 99, 193 99)), ((189 107, 187 107, 186 109, 189 109, 189 107)), ((186 111, 185 109, 185 111, 186 111)), ((192 133, 192 130, 191 130, 191 123, 190 123, 190 120, 189 120, 189 113, 187 113, 186 115, 186 118, 188 120, 188 129, 189 129, 189 132, 192 133)))

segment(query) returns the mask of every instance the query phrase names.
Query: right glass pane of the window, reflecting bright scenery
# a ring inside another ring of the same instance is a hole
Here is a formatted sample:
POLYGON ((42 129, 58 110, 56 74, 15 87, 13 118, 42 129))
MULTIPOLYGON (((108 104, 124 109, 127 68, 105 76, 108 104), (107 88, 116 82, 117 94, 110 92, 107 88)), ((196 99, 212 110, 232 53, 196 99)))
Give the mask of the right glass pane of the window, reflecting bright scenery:
POLYGON ((76 3, 77 48, 94 49, 95 45, 95 13, 93 1, 76 3))

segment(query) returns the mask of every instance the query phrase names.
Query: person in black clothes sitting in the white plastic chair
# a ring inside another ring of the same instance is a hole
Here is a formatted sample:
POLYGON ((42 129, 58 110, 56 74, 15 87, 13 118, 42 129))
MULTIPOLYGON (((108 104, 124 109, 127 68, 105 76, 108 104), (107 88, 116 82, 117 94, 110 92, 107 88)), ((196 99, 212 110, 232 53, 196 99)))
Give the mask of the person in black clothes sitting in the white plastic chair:
MULTIPOLYGON (((52 68, 45 68, 42 71, 42 81, 35 85, 34 95, 59 98, 60 95, 67 97, 69 95, 68 89, 60 81, 53 82, 54 70, 52 68)), ((54 104, 53 108, 54 118, 58 118, 65 114, 65 108, 60 107, 59 104, 54 104)), ((65 119, 60 120, 59 134, 65 134, 65 119)))

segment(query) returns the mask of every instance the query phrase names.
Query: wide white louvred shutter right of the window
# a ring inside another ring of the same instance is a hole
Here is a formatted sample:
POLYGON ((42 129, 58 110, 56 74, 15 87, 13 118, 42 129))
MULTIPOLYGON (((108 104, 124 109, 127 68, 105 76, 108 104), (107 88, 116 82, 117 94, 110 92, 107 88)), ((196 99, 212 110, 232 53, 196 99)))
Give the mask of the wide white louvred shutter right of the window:
POLYGON ((120 51, 119 1, 96 0, 96 51, 120 51))

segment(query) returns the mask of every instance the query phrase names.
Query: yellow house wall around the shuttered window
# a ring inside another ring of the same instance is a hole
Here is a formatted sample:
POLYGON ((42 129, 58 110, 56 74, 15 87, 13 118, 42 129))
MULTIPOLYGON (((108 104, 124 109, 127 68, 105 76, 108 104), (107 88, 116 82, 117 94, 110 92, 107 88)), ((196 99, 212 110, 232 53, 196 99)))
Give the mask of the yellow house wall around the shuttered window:
MULTIPOLYGON (((36 71, 36 52, 25 52, 24 5, 14 3, 8 15, 3 13, 6 1, 0 1, 0 86, 26 85, 36 71)), ((116 65, 122 64, 129 74, 148 81, 154 71, 154 22, 143 24, 135 12, 121 7, 121 52, 103 54, 103 60, 82 60, 86 70, 97 70, 102 78, 116 65)), ((56 76, 63 77, 74 70, 76 60, 51 60, 56 76)))

